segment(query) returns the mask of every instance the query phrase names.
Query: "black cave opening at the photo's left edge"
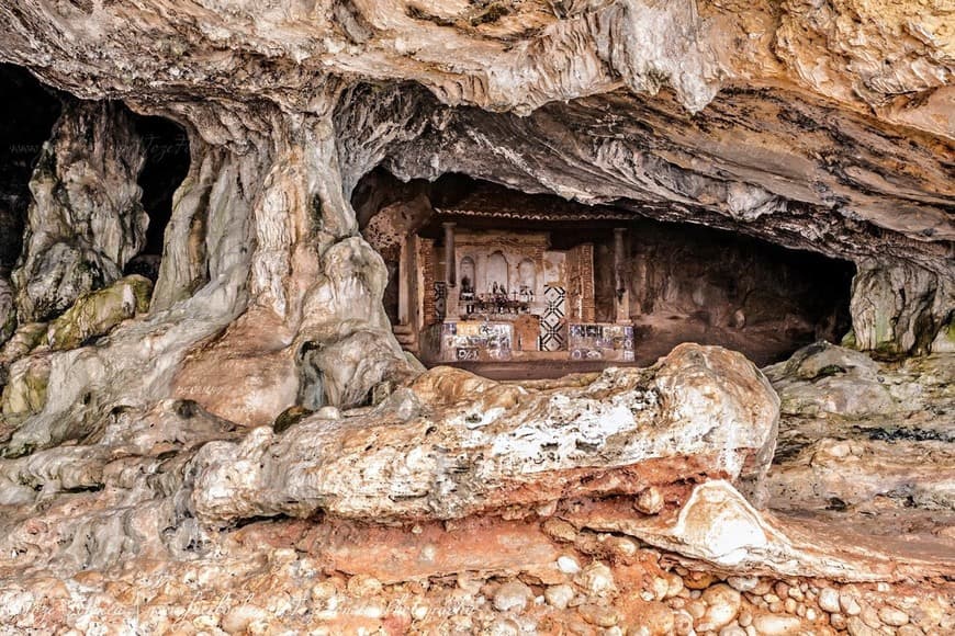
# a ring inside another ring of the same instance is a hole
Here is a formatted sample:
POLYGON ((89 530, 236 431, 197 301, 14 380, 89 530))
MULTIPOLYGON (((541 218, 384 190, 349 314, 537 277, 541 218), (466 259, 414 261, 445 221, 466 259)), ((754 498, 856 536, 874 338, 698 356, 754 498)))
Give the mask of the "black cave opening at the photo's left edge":
POLYGON ((59 117, 59 93, 25 68, 0 64, 0 276, 20 258, 30 178, 59 117))

